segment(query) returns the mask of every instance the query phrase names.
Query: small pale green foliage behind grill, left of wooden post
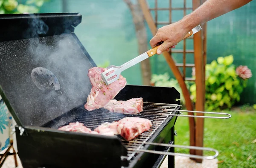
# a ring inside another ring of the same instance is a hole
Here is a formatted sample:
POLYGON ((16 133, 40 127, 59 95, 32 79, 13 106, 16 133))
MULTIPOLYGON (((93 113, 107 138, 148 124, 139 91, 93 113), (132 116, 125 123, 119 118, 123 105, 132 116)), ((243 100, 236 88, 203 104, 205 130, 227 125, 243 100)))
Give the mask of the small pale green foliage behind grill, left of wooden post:
MULTIPOLYGON (((164 74, 152 74, 151 83, 154 83, 155 86, 161 86, 161 87, 174 87, 177 89, 177 91, 180 93, 180 100, 183 105, 185 105, 185 98, 182 94, 182 90, 180 88, 180 85, 177 80, 170 79, 169 74, 166 72, 164 74)), ((185 82, 187 85, 187 88, 189 88, 189 82, 185 82)))

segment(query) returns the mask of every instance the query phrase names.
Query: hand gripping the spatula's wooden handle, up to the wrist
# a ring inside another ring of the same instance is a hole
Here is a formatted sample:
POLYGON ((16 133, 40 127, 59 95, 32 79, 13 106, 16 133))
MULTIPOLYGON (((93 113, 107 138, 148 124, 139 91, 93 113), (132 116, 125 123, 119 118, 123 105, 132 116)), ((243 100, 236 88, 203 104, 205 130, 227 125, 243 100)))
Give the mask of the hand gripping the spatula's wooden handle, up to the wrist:
POLYGON ((162 54, 163 51, 169 51, 169 48, 175 48, 177 43, 179 43, 186 34, 189 32, 188 29, 183 26, 181 21, 172 23, 167 26, 163 26, 159 28, 156 35, 150 40, 150 45, 152 48, 159 45, 159 43, 163 42, 157 48, 157 54, 162 54))

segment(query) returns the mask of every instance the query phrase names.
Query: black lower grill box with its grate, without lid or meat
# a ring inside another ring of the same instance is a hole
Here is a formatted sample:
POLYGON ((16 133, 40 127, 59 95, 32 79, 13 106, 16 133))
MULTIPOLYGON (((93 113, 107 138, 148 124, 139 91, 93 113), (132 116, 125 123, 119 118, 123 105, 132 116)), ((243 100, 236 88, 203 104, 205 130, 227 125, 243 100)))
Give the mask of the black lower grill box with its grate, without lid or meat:
MULTIPOLYGON (((84 167, 84 165, 95 168, 120 168, 121 166, 151 168, 160 166, 165 156, 143 152, 137 154, 127 149, 174 151, 174 148, 131 144, 118 136, 108 137, 57 130, 63 125, 76 121, 94 129, 104 122, 113 122, 123 117, 142 117, 151 120, 153 126, 150 131, 143 133, 135 140, 172 144, 174 142, 174 125, 177 116, 166 116, 164 114, 168 114, 178 108, 177 102, 172 101, 175 100, 174 97, 179 97, 177 90, 175 88, 127 85, 116 96, 116 99, 128 100, 131 97, 143 97, 145 102, 144 111, 138 115, 109 113, 104 109, 88 112, 81 105, 45 123, 41 127, 25 127, 27 134, 23 136, 20 136, 19 128, 16 127, 18 152, 23 166, 25 168, 72 168, 84 167), (136 91, 133 92, 134 96, 130 94, 132 90, 136 91), (151 93, 151 91, 153 93, 162 92, 162 94, 148 94, 148 96, 144 94, 151 93), (160 97, 169 98, 164 99, 163 104, 160 97), (149 100, 151 101, 149 102, 149 100), (163 109, 166 107, 169 107, 169 111, 165 112, 163 109), (131 156, 132 158, 129 159, 131 156)), ((169 167, 174 167, 174 157, 169 156, 168 158, 169 167)))

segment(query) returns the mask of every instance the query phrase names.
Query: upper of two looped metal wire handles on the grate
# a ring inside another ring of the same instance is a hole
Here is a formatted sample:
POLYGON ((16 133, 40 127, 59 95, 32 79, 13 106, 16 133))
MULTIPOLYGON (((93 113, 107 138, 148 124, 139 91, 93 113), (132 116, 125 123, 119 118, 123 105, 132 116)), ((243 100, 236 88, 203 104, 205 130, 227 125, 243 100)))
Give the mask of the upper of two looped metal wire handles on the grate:
MULTIPOLYGON (((179 105, 181 106, 181 105, 179 105)), ((206 112, 206 111, 189 111, 189 110, 173 110, 173 111, 183 111, 183 112, 191 112, 191 113, 203 113, 203 114, 220 114, 227 115, 228 117, 214 117, 214 116, 197 116, 197 115, 180 115, 180 114, 167 114, 169 116, 180 116, 180 117, 195 117, 195 118, 217 118, 217 119, 229 119, 231 117, 230 114, 227 113, 218 113, 218 112, 206 112)))

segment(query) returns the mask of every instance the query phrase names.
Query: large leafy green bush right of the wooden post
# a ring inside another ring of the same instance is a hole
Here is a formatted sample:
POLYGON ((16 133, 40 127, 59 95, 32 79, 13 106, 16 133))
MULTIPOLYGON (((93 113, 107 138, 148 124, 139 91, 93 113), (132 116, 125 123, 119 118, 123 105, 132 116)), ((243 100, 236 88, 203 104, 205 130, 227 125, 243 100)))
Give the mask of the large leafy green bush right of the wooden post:
MULTIPOLYGON (((241 80, 233 65, 233 55, 218 57, 206 65, 206 109, 220 111, 231 108, 240 101, 247 80, 241 80)), ((192 100, 196 101, 196 85, 190 87, 192 100)))

